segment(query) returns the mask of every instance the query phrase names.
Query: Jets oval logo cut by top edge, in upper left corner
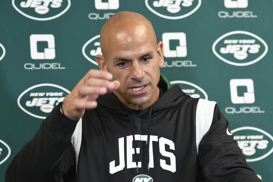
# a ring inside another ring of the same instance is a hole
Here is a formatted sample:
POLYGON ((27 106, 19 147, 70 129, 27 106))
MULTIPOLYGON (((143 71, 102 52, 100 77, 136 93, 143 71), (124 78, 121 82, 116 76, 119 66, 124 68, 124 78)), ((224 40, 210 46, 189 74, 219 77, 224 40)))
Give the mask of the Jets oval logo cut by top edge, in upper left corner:
POLYGON ((70 7, 70 0, 12 0, 13 7, 33 20, 52 20, 63 15, 70 7))

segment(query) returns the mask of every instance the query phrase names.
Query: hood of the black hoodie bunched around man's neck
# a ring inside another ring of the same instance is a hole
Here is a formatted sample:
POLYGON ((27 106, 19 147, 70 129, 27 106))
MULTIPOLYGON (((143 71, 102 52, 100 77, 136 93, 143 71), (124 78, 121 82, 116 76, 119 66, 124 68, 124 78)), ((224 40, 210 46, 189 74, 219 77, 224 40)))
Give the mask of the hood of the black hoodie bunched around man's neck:
MULTIPOLYGON (((167 91, 154 104, 151 105, 153 107, 153 114, 156 114, 163 109, 177 106, 177 104, 186 96, 178 85, 172 86, 172 84, 162 74, 160 74, 160 79, 157 86, 162 88, 162 90, 167 91)), ((149 107, 136 114, 125 106, 113 92, 99 96, 97 102, 99 105, 102 105, 112 112, 118 113, 119 115, 128 116, 128 114, 124 112, 123 108, 125 108, 132 117, 140 117, 143 119, 148 117, 149 107)))

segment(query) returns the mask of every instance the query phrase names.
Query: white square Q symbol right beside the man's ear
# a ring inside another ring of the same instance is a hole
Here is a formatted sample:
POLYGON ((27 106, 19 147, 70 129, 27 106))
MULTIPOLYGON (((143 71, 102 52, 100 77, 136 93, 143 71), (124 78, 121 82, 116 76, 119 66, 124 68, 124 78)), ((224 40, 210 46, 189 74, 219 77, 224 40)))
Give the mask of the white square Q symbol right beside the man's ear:
POLYGON ((186 34, 184 32, 163 33, 162 42, 164 45, 163 55, 165 57, 186 57, 186 34), (176 46, 176 50, 170 49, 170 40, 179 40, 179 46, 176 46))

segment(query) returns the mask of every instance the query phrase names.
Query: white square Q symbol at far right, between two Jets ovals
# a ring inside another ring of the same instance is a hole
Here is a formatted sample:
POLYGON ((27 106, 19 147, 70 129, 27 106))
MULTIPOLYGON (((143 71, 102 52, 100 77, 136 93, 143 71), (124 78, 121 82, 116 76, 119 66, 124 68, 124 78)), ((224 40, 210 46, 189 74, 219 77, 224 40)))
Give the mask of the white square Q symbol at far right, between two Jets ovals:
POLYGON ((255 102, 254 84, 252 79, 231 79, 229 81, 231 102, 233 104, 252 104, 255 102), (238 96, 237 87, 246 86, 244 96, 238 96))

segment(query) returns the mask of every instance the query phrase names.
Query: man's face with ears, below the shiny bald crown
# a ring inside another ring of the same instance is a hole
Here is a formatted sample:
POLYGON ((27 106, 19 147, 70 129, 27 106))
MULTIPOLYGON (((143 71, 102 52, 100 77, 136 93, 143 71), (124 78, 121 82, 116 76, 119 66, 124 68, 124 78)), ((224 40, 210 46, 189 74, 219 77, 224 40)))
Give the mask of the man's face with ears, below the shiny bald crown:
POLYGON ((132 36, 121 32, 103 55, 106 70, 112 73, 113 80, 120 82, 114 93, 129 108, 141 108, 134 106, 151 105, 157 100, 159 68, 163 66, 162 42, 157 45, 156 40, 151 39, 141 31, 132 36))

